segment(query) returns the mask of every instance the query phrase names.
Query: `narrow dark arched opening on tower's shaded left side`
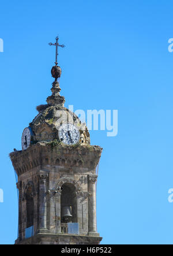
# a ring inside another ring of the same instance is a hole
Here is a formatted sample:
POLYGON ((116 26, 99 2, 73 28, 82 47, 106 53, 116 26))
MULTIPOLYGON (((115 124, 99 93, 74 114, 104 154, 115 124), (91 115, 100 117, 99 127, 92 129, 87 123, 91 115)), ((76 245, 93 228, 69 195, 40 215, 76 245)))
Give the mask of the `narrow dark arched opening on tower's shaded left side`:
POLYGON ((28 185, 26 191, 26 200, 27 200, 27 228, 33 226, 33 187, 31 184, 28 185))

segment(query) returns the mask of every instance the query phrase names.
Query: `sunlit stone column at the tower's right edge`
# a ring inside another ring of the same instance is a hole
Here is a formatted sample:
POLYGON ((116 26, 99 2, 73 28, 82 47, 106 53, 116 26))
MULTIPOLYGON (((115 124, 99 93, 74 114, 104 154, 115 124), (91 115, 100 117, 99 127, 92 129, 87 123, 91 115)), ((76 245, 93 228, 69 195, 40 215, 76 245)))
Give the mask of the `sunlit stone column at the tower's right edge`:
POLYGON ((96 181, 97 175, 88 175, 88 231, 91 236, 99 236, 96 224, 96 181))

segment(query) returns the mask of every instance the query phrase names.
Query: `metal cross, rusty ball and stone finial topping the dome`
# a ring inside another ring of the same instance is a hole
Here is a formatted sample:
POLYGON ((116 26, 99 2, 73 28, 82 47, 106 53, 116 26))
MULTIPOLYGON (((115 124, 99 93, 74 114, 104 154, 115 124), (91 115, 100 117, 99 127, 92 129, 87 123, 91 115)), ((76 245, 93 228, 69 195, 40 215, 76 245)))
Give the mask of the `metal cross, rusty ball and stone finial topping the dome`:
POLYGON ((55 54, 55 66, 52 66, 52 69, 51 69, 51 74, 52 74, 52 77, 55 78, 55 81, 54 81, 54 83, 52 83, 52 88, 51 88, 52 95, 47 98, 47 103, 49 105, 63 106, 65 103, 65 98, 59 94, 59 92, 61 91, 61 88, 59 87, 59 82, 57 81, 58 78, 61 77, 62 71, 61 71, 60 66, 58 66, 57 59, 58 59, 58 47, 64 48, 65 45, 59 44, 58 39, 59 38, 57 36, 56 43, 49 43, 50 46, 52 46, 52 45, 56 46, 56 54, 55 54))

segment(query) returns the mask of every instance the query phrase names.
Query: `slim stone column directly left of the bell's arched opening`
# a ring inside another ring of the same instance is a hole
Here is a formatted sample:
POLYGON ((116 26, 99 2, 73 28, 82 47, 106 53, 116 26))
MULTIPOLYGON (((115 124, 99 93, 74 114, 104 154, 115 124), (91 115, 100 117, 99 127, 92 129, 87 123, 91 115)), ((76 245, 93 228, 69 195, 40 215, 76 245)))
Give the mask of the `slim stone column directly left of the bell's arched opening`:
POLYGON ((55 232, 61 233, 61 190, 55 191, 55 232))

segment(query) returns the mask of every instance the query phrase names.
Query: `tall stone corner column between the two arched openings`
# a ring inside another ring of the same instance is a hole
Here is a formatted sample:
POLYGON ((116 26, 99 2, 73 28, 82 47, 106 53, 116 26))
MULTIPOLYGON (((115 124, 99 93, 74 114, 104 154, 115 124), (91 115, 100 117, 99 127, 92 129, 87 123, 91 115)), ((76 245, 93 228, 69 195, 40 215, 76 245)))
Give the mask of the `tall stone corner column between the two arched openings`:
POLYGON ((48 171, 39 171, 39 233, 47 232, 47 207, 46 207, 46 191, 48 171))

